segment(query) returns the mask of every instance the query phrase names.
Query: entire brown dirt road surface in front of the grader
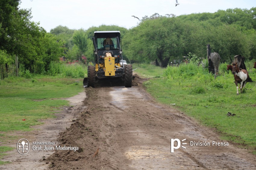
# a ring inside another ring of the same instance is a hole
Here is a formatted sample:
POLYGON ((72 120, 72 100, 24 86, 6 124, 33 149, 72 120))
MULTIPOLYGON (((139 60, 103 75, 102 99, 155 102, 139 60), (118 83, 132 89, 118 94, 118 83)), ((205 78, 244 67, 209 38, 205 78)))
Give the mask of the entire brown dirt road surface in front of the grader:
MULTIPOLYGON (((34 160, 38 164, 23 169, 256 169, 255 155, 230 143, 212 146, 213 141, 227 141, 171 106, 155 102, 141 86, 86 88, 85 93, 83 104, 71 108, 70 114, 76 114, 70 127, 55 136, 58 145, 79 150, 48 155, 42 151, 34 160), (171 139, 186 139, 181 142, 185 148, 171 153, 171 139), (190 141, 211 145, 191 146, 190 141), (97 148, 100 152, 92 158, 97 148)), ((36 152, 41 151, 28 155, 36 152)), ((0 169, 16 169, 13 162, 0 169)))

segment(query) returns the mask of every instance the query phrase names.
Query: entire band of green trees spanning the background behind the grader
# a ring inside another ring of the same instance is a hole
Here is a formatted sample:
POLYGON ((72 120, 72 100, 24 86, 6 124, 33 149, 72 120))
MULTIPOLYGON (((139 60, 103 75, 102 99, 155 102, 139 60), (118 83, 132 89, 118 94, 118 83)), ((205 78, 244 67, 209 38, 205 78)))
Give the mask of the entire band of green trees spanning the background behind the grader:
POLYGON ((94 31, 120 31, 123 56, 130 62, 155 61, 166 67, 170 62, 182 62, 189 53, 206 58, 207 44, 219 53, 221 62, 230 63, 239 54, 256 59, 256 7, 181 16, 155 13, 142 17, 130 29, 100 25, 74 30, 59 25, 47 33, 31 21, 30 9, 19 9, 20 3, 0 2, 0 62, 13 62, 17 55, 25 69, 34 73, 44 73, 62 56, 79 61, 84 56, 93 61, 94 31))

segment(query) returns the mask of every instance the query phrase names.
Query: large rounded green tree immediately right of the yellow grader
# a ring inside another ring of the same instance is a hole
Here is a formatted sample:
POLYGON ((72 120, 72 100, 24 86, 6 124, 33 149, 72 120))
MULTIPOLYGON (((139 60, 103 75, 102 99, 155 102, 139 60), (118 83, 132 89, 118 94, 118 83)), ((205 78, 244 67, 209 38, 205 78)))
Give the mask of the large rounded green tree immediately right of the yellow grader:
POLYGON ((158 61, 161 67, 167 67, 169 60, 182 56, 183 43, 179 34, 180 22, 175 17, 154 14, 142 21, 125 40, 128 58, 137 57, 137 61, 158 61))

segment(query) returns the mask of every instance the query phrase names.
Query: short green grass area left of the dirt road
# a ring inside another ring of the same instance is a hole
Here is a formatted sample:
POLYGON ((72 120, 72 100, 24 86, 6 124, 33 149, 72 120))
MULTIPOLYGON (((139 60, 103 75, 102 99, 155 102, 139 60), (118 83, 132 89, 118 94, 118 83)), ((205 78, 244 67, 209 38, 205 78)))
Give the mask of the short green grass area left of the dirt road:
MULTIPOLYGON (((59 108, 68 106, 63 98, 83 91, 83 79, 34 76, 30 79, 9 77, 0 81, 0 141, 4 145, 16 140, 12 131, 30 131, 39 120, 54 118, 59 108)), ((0 147, 0 159, 4 151, 0 147)), ((0 165, 8 163, 0 161, 0 165)))

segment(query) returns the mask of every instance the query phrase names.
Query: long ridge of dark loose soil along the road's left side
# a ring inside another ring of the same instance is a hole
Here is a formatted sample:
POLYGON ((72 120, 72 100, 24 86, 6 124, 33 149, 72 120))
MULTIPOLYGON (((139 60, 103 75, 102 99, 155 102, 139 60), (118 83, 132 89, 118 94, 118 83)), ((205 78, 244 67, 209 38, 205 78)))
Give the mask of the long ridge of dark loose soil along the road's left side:
MULTIPOLYGON (((54 154, 48 157, 45 163, 49 164, 50 169, 100 169, 98 158, 93 158, 92 155, 97 149, 99 135, 96 128, 93 128, 88 118, 91 116, 90 110, 94 110, 95 105, 92 101, 98 97, 97 88, 85 88, 87 98, 84 105, 87 109, 82 111, 76 120, 66 131, 60 134, 58 141, 60 146, 78 147, 78 151, 63 151, 57 150, 54 154), (94 130, 93 130, 94 129, 94 130)), ((94 111, 93 111, 94 112, 94 111)), ((92 113, 93 113, 92 112, 92 113)))

